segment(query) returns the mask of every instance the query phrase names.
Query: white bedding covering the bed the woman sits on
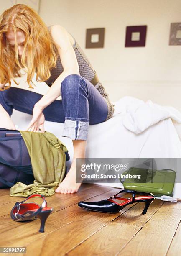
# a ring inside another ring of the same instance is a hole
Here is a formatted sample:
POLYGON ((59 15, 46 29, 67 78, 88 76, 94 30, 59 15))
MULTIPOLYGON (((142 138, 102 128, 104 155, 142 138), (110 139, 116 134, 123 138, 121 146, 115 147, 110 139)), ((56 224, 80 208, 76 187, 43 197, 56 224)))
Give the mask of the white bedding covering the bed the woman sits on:
MULTIPOLYGON (((106 122, 89 125, 87 158, 181 158, 181 141, 174 122, 181 123, 181 113, 170 106, 160 106, 151 100, 143 102, 123 97, 115 104, 115 113, 106 122)), ((26 129, 31 115, 14 110, 12 119, 18 129, 26 129)), ((71 166, 73 144, 61 137, 63 123, 46 121, 46 131, 54 133, 69 150, 71 166)), ((122 187, 122 184, 106 184, 122 187)), ((181 184, 175 184, 174 198, 181 198, 181 184)), ((163 197, 163 200, 173 198, 163 197)))

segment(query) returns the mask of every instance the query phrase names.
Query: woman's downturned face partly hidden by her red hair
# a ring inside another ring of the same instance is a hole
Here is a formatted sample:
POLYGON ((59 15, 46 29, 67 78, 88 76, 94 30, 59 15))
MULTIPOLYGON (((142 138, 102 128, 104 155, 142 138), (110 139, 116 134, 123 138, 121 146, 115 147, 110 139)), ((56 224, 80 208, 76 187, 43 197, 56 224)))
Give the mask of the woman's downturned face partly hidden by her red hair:
MULTIPOLYGON (((17 31, 17 44, 18 44, 18 54, 19 56, 22 56, 23 49, 24 49, 24 41, 25 41, 25 35, 21 31, 17 31)), ((13 30, 8 31, 6 33, 6 38, 12 48, 15 47, 15 34, 13 30)))

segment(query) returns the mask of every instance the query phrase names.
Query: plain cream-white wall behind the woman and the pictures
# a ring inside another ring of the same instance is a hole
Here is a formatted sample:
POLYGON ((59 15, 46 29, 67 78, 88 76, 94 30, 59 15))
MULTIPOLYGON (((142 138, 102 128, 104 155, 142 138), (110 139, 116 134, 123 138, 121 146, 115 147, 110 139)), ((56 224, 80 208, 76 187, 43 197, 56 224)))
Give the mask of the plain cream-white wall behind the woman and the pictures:
MULTIPOLYGON (((9 7, 2 2, 1 12, 9 7)), ((76 38, 112 101, 130 95, 181 111, 181 46, 168 45, 170 23, 181 22, 181 0, 41 0, 40 15, 76 38), (148 26, 145 47, 124 47, 132 25, 148 26), (85 49, 86 28, 99 27, 105 47, 85 49)))

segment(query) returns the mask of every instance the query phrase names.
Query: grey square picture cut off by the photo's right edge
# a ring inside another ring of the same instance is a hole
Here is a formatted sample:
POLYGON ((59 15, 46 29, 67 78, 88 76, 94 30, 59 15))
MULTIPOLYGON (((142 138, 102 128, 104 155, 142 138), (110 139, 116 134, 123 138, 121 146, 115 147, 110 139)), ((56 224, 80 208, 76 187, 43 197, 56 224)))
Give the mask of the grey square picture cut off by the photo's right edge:
POLYGON ((181 45, 181 22, 171 23, 169 45, 181 45))

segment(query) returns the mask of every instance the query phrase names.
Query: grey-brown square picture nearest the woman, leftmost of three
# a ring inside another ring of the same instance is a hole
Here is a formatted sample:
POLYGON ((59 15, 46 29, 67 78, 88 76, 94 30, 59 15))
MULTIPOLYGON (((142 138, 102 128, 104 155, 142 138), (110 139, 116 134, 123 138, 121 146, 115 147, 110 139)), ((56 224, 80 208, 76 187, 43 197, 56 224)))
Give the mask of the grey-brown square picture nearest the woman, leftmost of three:
POLYGON ((86 31, 85 48, 103 48, 105 28, 88 28, 86 31))

